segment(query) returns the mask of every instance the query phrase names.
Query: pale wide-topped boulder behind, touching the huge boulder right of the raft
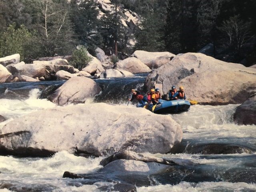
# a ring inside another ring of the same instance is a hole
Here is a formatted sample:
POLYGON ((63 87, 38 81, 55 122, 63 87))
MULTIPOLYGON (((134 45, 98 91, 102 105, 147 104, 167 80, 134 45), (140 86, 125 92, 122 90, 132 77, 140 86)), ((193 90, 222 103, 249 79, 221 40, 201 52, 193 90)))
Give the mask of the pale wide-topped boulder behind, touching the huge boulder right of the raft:
POLYGON ((150 69, 156 69, 168 63, 175 55, 170 52, 147 52, 136 50, 131 57, 138 58, 150 69))

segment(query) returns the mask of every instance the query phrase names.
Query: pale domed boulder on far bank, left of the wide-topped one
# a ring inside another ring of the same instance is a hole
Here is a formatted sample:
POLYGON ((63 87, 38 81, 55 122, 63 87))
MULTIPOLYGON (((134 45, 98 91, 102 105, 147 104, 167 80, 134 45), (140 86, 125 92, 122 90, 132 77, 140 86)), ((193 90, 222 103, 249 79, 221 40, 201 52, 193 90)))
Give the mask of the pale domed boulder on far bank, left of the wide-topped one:
POLYGON ((116 69, 135 73, 149 73, 151 69, 135 57, 128 57, 116 63, 116 69))

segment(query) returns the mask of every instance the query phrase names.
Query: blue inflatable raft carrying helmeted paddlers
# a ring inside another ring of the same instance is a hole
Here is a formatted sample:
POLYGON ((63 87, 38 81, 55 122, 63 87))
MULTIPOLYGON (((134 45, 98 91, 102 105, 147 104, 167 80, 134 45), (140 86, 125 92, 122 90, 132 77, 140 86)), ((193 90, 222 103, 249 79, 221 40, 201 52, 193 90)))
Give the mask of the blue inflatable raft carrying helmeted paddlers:
POLYGON ((190 108, 190 102, 188 100, 172 100, 172 101, 166 101, 160 99, 158 104, 148 106, 148 110, 156 113, 156 114, 162 114, 162 113, 180 113, 184 111, 188 111, 190 108))

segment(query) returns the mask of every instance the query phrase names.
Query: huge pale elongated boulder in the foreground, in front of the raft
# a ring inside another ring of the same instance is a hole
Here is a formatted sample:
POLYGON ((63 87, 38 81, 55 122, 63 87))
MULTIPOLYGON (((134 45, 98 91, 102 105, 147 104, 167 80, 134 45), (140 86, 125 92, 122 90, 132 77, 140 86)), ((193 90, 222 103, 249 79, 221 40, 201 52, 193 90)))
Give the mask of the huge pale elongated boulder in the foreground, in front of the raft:
POLYGON ((95 156, 120 150, 164 154, 181 141, 182 129, 171 116, 144 108, 94 103, 22 116, 3 127, 0 138, 0 151, 8 154, 42 156, 61 150, 95 156))

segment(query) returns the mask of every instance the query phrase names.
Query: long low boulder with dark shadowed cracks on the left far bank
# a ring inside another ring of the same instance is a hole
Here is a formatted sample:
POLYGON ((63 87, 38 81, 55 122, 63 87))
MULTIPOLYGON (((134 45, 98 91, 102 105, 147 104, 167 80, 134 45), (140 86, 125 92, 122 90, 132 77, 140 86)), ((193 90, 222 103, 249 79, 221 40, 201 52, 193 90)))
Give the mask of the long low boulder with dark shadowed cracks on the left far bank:
POLYGON ((15 64, 6 66, 13 76, 26 75, 32 78, 44 77, 45 80, 54 79, 54 74, 60 70, 74 73, 74 67, 69 65, 52 64, 15 64))

